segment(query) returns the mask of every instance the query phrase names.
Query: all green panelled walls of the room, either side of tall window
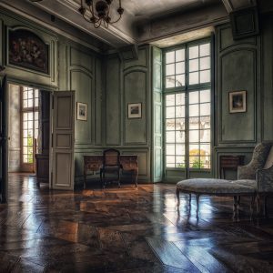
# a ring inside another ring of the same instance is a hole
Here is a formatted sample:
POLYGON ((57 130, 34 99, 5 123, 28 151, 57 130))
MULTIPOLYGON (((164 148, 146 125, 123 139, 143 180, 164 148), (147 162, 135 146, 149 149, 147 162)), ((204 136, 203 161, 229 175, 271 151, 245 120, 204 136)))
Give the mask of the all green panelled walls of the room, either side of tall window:
MULTIPOLYGON (((261 35, 238 41, 233 40, 230 25, 216 27, 215 177, 221 155, 245 155, 247 162, 258 142, 273 139, 272 23, 272 16, 263 16, 261 35), (228 92, 235 90, 248 93, 246 113, 228 112, 228 92)), ((76 120, 76 182, 83 179, 83 156, 102 154, 106 147, 138 155, 140 181, 164 177, 160 50, 142 45, 137 58, 127 61, 118 54, 101 56, 91 49, 93 45, 80 45, 4 10, 0 13, 0 37, 0 64, 6 66, 9 80, 51 90, 74 89, 76 101, 87 104, 87 121, 76 120), (50 45, 48 76, 8 64, 6 35, 16 27, 35 32, 50 45), (128 118, 129 103, 142 104, 141 118, 128 118)), ((235 177, 236 173, 228 175, 235 177)), ((183 174, 176 179, 181 177, 183 174)))

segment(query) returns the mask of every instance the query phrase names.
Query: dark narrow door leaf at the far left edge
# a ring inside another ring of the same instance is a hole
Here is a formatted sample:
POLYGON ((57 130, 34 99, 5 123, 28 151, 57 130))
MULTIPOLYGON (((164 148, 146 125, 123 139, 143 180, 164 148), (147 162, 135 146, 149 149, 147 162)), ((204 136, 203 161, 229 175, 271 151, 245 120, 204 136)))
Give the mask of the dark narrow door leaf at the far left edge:
POLYGON ((7 202, 7 83, 4 76, 0 87, 0 202, 7 202))

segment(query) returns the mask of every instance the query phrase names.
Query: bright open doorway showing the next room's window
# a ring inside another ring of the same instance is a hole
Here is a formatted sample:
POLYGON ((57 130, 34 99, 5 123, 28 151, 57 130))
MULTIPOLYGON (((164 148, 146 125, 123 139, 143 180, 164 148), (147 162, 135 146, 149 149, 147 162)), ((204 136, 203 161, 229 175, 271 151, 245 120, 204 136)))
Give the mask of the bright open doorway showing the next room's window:
POLYGON ((8 172, 35 173, 39 151, 39 89, 8 85, 8 172))

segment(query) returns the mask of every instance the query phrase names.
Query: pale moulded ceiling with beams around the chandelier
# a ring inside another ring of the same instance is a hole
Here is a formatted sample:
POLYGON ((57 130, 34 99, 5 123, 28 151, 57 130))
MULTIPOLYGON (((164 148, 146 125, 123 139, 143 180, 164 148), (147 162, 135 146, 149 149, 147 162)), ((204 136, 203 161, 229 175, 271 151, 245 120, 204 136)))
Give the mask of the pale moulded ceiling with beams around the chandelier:
MULTIPOLYGON (((79 15, 80 0, 0 0, 0 5, 37 20, 43 20, 42 12, 55 15, 112 48, 150 43, 225 22, 231 11, 255 4, 256 0, 122 0, 125 13, 121 20, 108 29, 96 29, 79 15)), ((111 17, 115 20, 115 13, 111 17)))

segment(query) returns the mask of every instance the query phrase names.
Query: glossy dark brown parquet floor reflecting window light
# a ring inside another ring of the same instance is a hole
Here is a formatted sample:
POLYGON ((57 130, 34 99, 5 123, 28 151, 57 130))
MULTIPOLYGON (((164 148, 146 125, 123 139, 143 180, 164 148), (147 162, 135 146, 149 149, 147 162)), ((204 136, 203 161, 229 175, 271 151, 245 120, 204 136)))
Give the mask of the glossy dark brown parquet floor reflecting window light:
MULTIPOLYGON (((232 198, 189 210, 175 185, 72 192, 10 175, 0 205, 0 272, 273 272, 273 218, 232 219, 232 198)), ((272 211, 272 209, 271 209, 272 211)))

